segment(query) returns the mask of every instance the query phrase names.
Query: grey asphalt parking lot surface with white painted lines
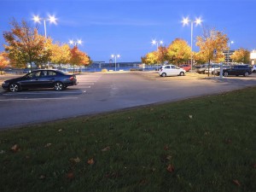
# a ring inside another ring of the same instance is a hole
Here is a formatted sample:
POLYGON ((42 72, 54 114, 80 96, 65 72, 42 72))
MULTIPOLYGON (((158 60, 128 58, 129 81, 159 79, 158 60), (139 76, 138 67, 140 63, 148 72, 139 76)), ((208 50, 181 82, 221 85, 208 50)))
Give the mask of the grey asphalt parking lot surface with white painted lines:
POLYGON ((159 102, 174 102, 256 85, 250 77, 204 79, 160 78, 155 72, 84 73, 79 84, 61 92, 53 89, 10 93, 0 89, 0 129, 111 112, 159 102))

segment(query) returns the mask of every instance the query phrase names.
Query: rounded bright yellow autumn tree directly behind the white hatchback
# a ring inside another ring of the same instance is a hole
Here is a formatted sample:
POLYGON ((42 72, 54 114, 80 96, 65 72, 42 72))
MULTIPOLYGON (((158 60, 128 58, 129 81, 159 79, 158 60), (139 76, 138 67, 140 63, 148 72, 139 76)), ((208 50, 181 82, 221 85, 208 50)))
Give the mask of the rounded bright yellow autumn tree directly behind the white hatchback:
POLYGON ((191 56, 191 48, 189 44, 181 38, 176 38, 167 48, 168 61, 175 63, 183 63, 188 61, 191 56))

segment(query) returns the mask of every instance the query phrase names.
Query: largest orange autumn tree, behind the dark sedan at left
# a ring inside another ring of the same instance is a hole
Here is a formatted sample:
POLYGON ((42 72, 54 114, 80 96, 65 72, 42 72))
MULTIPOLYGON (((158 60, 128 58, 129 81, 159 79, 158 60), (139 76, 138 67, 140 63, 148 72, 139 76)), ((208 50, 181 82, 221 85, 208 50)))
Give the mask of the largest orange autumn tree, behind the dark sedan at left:
POLYGON ((15 19, 10 22, 11 31, 3 32, 5 51, 15 67, 26 67, 27 63, 40 63, 49 61, 50 50, 46 49, 44 36, 38 34, 37 28, 32 28, 25 20, 18 23, 15 19))

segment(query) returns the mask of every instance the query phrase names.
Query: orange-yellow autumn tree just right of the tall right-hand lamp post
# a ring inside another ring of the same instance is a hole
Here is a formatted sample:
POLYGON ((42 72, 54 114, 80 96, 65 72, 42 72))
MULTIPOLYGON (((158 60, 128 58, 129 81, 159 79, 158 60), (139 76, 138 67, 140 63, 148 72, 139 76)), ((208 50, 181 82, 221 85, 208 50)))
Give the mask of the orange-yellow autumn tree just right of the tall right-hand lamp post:
POLYGON ((196 45, 199 46, 200 51, 196 58, 200 58, 204 62, 220 62, 224 61, 223 51, 228 48, 229 38, 223 32, 218 32, 215 29, 204 29, 202 36, 197 37, 196 45), (213 55, 213 51, 216 49, 216 55, 213 55))

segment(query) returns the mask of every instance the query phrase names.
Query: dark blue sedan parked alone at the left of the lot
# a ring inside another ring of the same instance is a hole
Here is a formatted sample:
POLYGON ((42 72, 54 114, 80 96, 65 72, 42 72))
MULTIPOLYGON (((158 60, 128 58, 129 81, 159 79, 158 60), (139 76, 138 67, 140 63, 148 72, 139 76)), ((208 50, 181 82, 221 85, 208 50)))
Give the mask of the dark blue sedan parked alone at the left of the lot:
POLYGON ((67 74, 59 70, 40 69, 27 73, 25 76, 9 79, 3 82, 3 90, 17 92, 28 89, 54 88, 63 90, 67 86, 78 84, 74 74, 67 74))

